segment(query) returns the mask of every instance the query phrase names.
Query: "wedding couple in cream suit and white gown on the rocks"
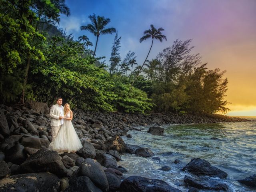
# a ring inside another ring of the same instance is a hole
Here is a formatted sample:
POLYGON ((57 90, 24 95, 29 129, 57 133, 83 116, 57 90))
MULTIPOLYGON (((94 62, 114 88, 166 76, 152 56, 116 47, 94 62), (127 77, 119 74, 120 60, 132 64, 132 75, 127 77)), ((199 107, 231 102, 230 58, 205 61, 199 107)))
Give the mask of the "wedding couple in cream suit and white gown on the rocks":
POLYGON ((52 142, 49 149, 59 154, 76 152, 83 146, 71 122, 73 112, 68 103, 62 106, 62 98, 57 98, 56 102, 50 109, 52 142))

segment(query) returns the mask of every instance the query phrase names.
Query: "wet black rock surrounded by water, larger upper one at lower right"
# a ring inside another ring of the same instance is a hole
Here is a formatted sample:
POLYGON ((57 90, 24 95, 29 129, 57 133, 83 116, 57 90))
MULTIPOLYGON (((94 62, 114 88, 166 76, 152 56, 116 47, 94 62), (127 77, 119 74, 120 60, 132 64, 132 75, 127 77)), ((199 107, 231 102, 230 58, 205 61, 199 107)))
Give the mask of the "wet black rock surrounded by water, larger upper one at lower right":
POLYGON ((228 176, 226 172, 214 166, 211 166, 211 164, 208 161, 200 158, 192 159, 190 163, 186 164, 186 166, 182 168, 182 171, 188 171, 198 176, 208 175, 211 177, 218 177, 221 179, 225 179, 228 176))

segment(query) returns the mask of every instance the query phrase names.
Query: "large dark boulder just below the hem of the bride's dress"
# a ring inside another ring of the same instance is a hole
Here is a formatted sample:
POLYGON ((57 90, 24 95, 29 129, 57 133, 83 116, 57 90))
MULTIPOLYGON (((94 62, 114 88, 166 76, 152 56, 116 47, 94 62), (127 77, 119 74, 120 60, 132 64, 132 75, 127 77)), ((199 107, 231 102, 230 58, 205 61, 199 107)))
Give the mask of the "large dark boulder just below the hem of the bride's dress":
POLYGON ((42 149, 31 155, 20 165, 25 172, 51 172, 58 176, 66 176, 67 170, 58 152, 42 149))

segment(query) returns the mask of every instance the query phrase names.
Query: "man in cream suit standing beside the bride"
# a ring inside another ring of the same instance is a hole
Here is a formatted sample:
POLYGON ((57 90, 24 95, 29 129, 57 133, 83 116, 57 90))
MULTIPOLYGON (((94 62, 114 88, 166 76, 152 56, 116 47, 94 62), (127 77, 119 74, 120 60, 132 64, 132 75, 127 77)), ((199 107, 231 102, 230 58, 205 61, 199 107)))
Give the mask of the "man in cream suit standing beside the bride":
POLYGON ((50 118, 51 118, 51 126, 52 126, 52 142, 56 138, 60 126, 64 123, 64 107, 62 104, 62 98, 57 98, 57 103, 53 105, 50 109, 50 118))

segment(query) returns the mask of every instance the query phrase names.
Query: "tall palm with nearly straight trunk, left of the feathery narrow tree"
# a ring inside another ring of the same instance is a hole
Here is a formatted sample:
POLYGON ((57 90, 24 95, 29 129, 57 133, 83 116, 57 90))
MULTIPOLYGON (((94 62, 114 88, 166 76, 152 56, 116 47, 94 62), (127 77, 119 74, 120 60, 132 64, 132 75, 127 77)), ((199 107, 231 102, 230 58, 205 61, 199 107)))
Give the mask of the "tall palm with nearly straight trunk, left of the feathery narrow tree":
POLYGON ((87 30, 87 31, 91 32, 92 34, 94 34, 94 36, 97 37, 96 46, 95 46, 94 53, 93 53, 93 56, 94 56, 95 52, 96 52, 100 34, 102 34, 102 35, 112 34, 112 33, 116 32, 116 29, 115 28, 104 29, 106 27, 106 25, 110 22, 110 18, 104 18, 104 16, 96 17, 96 15, 93 14, 93 15, 89 15, 89 19, 92 22, 92 24, 88 24, 86 26, 81 26, 80 29, 87 30))

